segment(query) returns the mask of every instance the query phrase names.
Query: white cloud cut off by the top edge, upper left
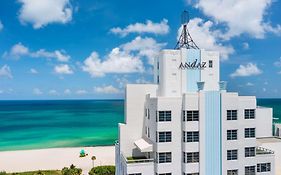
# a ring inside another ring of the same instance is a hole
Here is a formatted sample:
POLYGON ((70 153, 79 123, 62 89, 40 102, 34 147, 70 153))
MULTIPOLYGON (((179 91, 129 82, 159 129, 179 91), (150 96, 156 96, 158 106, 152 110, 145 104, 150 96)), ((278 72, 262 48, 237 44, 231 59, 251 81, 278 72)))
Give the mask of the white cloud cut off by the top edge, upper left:
POLYGON ((22 4, 19 11, 21 23, 31 23, 33 28, 42 28, 50 23, 65 24, 72 19, 69 0, 18 0, 22 4))

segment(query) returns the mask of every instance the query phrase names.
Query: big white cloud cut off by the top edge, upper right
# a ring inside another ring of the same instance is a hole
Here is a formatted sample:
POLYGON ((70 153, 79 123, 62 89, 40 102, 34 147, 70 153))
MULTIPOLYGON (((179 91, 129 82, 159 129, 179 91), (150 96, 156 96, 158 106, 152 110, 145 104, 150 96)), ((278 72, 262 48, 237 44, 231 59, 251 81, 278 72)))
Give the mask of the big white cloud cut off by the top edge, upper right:
POLYGON ((247 33, 263 38, 266 32, 281 33, 281 26, 271 26, 265 17, 273 0, 198 0, 195 7, 215 21, 226 24, 224 39, 247 33))

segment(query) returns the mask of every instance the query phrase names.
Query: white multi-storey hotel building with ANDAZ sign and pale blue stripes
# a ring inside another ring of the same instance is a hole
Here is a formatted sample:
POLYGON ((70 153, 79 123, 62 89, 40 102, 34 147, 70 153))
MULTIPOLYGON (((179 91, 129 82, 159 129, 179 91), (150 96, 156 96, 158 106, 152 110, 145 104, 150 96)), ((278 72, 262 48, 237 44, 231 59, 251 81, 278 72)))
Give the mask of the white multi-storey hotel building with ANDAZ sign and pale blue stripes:
POLYGON ((272 137, 272 109, 227 92, 219 53, 186 32, 155 59, 154 84, 126 86, 116 175, 274 175, 274 152, 258 142, 272 137))

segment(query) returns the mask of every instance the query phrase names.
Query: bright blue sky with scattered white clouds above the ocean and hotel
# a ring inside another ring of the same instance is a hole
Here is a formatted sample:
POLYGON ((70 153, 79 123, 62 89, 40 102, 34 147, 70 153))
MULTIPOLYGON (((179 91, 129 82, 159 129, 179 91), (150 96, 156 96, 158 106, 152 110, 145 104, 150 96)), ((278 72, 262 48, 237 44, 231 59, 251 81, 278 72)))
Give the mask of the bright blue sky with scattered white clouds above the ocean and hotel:
POLYGON ((200 48, 221 52, 229 91, 281 97, 281 2, 274 0, 4 0, 0 99, 123 98, 152 82, 152 60, 174 48, 191 14, 200 48))

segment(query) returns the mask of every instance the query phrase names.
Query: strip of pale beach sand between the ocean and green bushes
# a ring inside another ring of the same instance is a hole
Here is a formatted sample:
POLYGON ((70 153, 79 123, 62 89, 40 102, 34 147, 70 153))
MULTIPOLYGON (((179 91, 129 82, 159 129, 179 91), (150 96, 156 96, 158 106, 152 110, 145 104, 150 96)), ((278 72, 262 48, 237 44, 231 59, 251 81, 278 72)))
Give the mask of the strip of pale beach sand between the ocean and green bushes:
POLYGON ((96 156, 94 166, 115 164, 114 146, 50 148, 0 152, 0 171, 61 170, 74 164, 82 168, 83 174, 87 174, 93 166, 93 155, 96 156), (79 157, 81 149, 84 149, 88 156, 79 157))

